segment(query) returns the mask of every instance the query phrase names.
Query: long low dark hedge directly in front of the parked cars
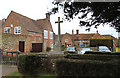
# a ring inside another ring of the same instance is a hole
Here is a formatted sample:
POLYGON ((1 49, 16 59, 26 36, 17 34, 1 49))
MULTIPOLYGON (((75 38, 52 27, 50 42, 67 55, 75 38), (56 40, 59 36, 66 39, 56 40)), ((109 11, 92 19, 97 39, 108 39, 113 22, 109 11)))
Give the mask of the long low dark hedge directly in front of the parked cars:
POLYGON ((119 55, 103 55, 103 54, 69 54, 66 55, 65 58, 68 59, 79 59, 79 60, 100 60, 100 61, 112 61, 120 59, 119 55))

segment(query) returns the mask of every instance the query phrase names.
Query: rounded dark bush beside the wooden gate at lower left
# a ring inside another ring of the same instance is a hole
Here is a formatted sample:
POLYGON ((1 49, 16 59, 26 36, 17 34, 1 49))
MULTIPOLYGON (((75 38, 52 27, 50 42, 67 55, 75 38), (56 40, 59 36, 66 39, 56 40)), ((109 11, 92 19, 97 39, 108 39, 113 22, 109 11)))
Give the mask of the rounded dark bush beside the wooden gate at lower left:
POLYGON ((19 55, 18 57, 18 71, 23 76, 37 76, 40 73, 48 72, 47 55, 19 55))

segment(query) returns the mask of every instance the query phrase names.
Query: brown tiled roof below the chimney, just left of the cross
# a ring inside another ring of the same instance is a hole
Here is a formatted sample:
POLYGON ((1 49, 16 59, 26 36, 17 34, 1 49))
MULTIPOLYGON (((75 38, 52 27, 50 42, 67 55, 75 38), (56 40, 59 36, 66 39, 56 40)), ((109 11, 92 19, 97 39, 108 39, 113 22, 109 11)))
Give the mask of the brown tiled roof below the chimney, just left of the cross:
POLYGON ((42 29, 53 32, 52 25, 47 19, 38 19, 37 22, 41 25, 42 29))

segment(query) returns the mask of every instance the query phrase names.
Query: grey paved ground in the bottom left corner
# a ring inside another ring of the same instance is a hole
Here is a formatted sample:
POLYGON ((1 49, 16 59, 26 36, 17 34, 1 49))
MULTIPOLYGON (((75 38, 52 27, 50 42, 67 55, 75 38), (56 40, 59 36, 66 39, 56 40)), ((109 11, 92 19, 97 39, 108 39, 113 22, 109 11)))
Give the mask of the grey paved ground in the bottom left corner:
POLYGON ((17 66, 15 65, 2 65, 2 76, 7 76, 8 74, 17 70, 17 66))

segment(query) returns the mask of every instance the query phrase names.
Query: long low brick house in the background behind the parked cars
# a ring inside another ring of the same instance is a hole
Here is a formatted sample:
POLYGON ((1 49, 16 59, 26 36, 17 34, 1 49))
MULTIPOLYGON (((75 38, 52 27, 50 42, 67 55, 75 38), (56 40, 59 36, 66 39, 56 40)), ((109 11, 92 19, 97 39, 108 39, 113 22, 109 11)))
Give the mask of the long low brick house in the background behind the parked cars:
MULTIPOLYGON (((55 44, 57 43, 57 35, 55 36, 55 44)), ((112 38, 113 39, 113 47, 116 47, 116 38, 111 35, 100 35, 98 31, 96 33, 89 33, 89 34, 79 34, 79 30, 74 31, 72 30, 72 34, 65 33, 61 35, 61 43, 65 47, 68 46, 77 46, 77 47, 86 47, 90 43, 91 38, 112 38)))

